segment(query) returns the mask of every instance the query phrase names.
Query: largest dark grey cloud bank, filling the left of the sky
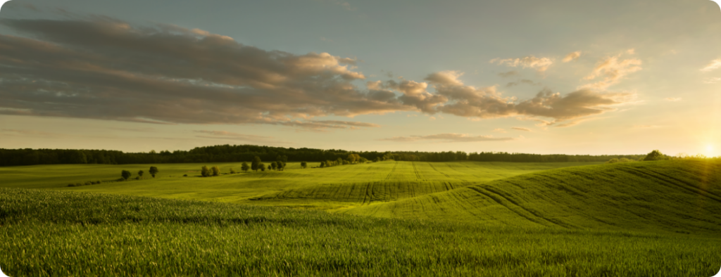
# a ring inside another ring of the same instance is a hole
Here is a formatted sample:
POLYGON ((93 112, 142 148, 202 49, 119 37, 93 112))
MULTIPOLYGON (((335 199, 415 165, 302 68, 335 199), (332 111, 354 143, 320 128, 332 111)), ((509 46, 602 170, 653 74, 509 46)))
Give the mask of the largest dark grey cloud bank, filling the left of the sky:
POLYGON ((0 35, 0 114, 337 127, 344 124, 306 121, 414 110, 361 91, 356 60, 329 53, 262 50, 201 29, 117 19, 0 24, 26 36, 0 35))

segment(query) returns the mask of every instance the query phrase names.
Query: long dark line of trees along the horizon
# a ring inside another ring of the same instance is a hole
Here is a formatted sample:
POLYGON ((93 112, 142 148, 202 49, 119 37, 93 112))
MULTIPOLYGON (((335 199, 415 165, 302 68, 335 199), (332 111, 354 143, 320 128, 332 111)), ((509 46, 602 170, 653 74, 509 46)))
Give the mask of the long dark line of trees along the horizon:
POLYGON ((0 166, 7 165, 53 165, 53 164, 137 164, 137 163, 236 163, 251 161, 255 156, 263 161, 278 160, 286 156, 291 161, 320 162, 346 159, 355 153, 372 161, 500 161, 500 162, 606 162, 612 158, 638 160, 645 155, 539 155, 501 152, 351 152, 346 150, 322 150, 311 148, 285 148, 258 145, 215 145, 195 147, 192 150, 161 151, 155 153, 123 153, 117 150, 63 150, 63 149, 2 149, 0 166))

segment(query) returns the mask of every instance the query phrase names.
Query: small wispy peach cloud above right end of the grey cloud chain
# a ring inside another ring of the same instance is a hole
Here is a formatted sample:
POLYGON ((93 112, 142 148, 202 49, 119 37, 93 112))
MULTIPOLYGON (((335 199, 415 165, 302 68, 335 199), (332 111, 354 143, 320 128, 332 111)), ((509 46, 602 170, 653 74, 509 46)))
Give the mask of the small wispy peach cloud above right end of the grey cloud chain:
POLYGON ((636 71, 640 71, 641 60, 639 59, 626 59, 619 60, 621 55, 609 57, 601 60, 593 68, 588 76, 585 76, 584 80, 593 80, 598 77, 603 77, 603 80, 596 83, 588 83, 579 88, 594 88, 594 89, 606 89, 609 86, 618 83, 625 76, 636 71))

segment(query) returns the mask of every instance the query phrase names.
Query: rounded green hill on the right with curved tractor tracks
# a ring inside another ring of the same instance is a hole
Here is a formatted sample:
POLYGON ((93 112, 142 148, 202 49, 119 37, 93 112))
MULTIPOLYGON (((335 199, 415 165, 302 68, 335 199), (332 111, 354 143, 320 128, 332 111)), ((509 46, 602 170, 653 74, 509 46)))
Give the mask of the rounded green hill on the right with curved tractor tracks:
POLYGON ((373 217, 721 234, 721 163, 560 168, 345 212, 373 217))

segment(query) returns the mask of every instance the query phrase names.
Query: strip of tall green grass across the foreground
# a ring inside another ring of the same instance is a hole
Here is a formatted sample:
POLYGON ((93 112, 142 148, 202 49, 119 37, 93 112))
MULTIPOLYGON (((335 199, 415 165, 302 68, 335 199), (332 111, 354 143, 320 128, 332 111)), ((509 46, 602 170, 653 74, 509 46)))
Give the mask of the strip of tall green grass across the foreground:
POLYGON ((14 276, 713 276, 721 240, 0 188, 14 276))

